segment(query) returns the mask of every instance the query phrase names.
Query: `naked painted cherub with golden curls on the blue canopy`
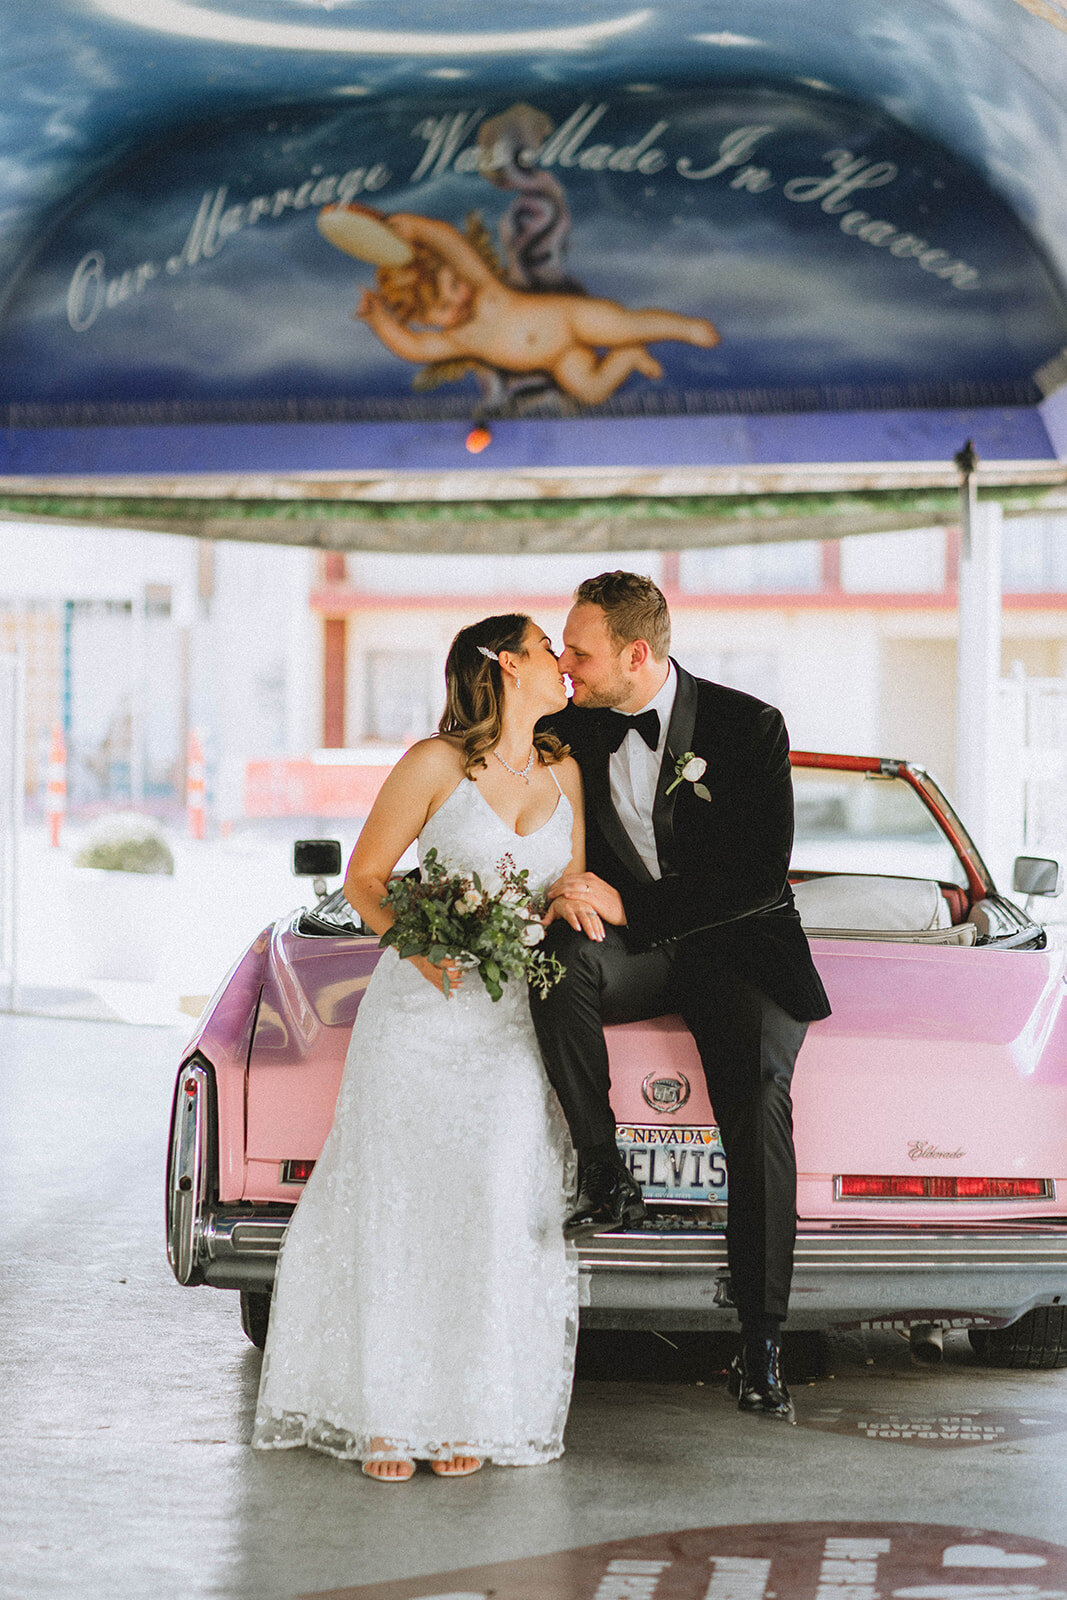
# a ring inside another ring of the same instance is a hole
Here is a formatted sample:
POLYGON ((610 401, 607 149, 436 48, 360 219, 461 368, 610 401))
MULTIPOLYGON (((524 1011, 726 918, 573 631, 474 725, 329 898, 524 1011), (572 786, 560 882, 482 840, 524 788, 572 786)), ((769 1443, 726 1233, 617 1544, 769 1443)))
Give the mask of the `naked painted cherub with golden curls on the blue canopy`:
POLYGON ((355 315, 406 362, 549 373, 563 394, 598 405, 632 373, 662 378, 648 342, 718 344, 704 317, 512 288, 450 222, 398 211, 381 224, 406 246, 405 259, 379 264, 355 315))

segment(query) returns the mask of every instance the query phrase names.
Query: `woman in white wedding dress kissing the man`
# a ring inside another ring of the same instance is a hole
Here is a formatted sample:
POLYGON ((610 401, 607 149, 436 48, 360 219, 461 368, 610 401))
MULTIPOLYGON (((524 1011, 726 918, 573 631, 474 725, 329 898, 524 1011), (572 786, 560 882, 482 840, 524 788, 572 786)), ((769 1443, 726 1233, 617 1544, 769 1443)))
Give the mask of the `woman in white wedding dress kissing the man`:
MULTIPOLYGON (((413 840, 453 872, 509 856, 534 891, 584 870, 577 765, 534 736, 566 702, 545 634, 485 618, 453 640, 445 682, 438 734, 392 770, 349 862, 346 896, 378 934, 413 840)), ((253 1445, 309 1445, 389 1482, 418 1459, 459 1477, 561 1454, 577 1334, 569 1165, 526 986, 510 979, 493 1002, 477 971, 384 950, 278 1261, 253 1445)))

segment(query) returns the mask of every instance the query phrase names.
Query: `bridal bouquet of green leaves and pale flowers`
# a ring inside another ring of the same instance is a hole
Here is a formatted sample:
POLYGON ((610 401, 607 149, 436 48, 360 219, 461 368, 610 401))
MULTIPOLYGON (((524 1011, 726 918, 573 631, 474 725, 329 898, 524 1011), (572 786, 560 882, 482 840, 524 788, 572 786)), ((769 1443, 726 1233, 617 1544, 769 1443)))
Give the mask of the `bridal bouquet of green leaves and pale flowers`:
MULTIPOLYGON (((510 856, 496 864, 496 872, 478 877, 450 874, 435 850, 422 861, 422 880, 394 878, 382 906, 389 906, 395 922, 378 941, 392 944, 403 958, 424 955, 427 962, 459 960, 478 976, 499 1000, 509 978, 525 978, 539 995, 563 976, 555 955, 537 946, 544 939, 541 917, 544 906, 530 890, 530 872, 515 870, 510 856)), ((448 974, 445 974, 448 994, 448 974)))

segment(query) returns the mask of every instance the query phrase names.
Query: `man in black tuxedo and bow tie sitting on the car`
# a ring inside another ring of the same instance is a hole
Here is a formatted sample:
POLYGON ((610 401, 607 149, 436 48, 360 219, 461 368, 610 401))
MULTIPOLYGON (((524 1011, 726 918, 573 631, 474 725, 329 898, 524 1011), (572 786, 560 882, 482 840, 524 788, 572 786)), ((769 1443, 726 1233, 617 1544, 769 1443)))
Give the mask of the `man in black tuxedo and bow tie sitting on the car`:
POLYGON ((566 1232, 645 1214, 614 1142, 603 1024, 680 1013, 729 1171, 742 1333, 731 1387, 741 1410, 792 1419, 779 1363, 797 1230, 789 1086, 808 1022, 830 1006, 787 877, 785 725, 773 706, 669 658, 667 602, 637 573, 579 584, 563 646, 574 693, 552 731, 582 770, 587 870, 549 891, 545 947, 566 974, 533 1016, 577 1149, 566 1232))

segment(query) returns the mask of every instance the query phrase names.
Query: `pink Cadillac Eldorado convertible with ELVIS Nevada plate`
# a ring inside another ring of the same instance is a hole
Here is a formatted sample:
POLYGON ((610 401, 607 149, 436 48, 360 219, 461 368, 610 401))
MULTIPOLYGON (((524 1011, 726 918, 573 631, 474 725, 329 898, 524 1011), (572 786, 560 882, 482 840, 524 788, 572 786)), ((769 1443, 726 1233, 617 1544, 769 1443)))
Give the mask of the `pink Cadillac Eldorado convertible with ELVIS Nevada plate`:
MULTIPOLYGON (((966 1328, 985 1362, 1067 1365, 1067 952, 997 893, 920 766, 792 762, 790 878, 833 1014, 793 1080, 789 1326, 901 1328, 926 1355, 966 1328)), ((298 872, 339 866, 331 842, 298 846, 298 872)), ((1061 870, 1019 858, 1014 888, 1056 894, 1061 870)), ((264 928, 182 1056, 170 1261, 179 1283, 238 1290, 256 1344, 378 957, 341 890, 323 893, 264 928)), ((608 1034, 619 1147, 649 1218, 581 1248, 582 1320, 731 1328, 728 1173, 693 1038, 673 1016, 608 1034)))

